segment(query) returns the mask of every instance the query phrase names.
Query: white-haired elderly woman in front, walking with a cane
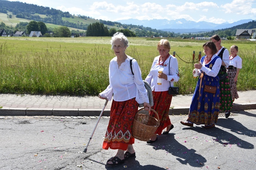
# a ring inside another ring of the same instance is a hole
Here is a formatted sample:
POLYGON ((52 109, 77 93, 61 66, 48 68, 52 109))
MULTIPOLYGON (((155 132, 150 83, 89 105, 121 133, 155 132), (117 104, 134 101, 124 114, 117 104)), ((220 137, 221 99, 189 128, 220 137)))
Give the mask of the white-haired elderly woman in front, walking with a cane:
POLYGON ((117 165, 135 156, 132 126, 139 103, 143 103, 147 111, 151 110, 151 106, 139 65, 135 59, 132 60, 133 75, 130 68, 132 57, 125 54, 129 46, 128 39, 123 33, 117 32, 113 35, 111 44, 116 57, 109 64, 109 86, 99 97, 110 101, 113 95, 109 125, 102 148, 118 149, 117 154, 107 160, 107 165, 117 165))

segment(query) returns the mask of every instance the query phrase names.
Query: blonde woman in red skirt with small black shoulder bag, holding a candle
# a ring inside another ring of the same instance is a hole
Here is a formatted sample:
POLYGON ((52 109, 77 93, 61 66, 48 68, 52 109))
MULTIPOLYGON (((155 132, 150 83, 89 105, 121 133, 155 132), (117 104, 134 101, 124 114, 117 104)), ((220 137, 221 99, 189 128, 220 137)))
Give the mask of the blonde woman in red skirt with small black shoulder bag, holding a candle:
MULTIPOLYGON (((147 75, 145 81, 151 85, 154 109, 160 119, 160 126, 157 128, 156 132, 147 143, 153 143, 157 141, 157 134, 161 135, 162 130, 166 128, 163 132, 167 135, 170 130, 173 129, 173 124, 169 118, 169 109, 172 102, 172 95, 168 94, 168 89, 170 86, 173 87, 173 82, 177 82, 179 77, 178 61, 177 59, 170 55, 171 46, 168 40, 162 39, 157 44, 157 50, 159 56, 154 58, 152 67, 147 75), (159 69, 162 71, 159 72, 159 69), (157 82, 160 79, 162 83, 157 82)), ((150 115, 154 116, 154 112, 151 111, 150 115)))

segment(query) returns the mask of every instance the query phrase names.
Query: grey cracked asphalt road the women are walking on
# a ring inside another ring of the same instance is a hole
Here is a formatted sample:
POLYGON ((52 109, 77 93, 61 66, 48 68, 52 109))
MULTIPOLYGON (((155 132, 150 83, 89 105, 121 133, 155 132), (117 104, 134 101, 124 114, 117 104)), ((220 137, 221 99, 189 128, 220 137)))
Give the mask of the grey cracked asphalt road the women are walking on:
POLYGON ((103 150, 109 118, 102 118, 87 152, 84 148, 95 119, 0 119, 0 170, 255 170, 256 110, 219 116, 212 129, 185 127, 186 115, 173 115, 174 128, 148 145, 135 140, 136 157, 125 163, 105 165, 116 150, 103 150))

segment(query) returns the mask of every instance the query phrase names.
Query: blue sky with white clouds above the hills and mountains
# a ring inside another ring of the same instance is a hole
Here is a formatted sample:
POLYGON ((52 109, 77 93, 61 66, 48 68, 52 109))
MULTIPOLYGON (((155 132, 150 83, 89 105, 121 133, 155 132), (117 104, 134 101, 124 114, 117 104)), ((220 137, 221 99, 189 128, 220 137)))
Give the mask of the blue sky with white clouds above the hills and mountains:
POLYGON ((216 24, 256 20, 256 0, 9 0, 47 6, 94 19, 180 19, 216 24))

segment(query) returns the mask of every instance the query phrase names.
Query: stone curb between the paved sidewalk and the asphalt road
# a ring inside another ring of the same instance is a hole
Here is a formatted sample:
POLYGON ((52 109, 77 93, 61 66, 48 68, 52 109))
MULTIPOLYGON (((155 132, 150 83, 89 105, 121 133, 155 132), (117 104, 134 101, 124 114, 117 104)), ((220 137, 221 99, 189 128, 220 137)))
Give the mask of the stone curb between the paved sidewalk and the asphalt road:
MULTIPOLYGON (((254 103, 235 103, 232 111, 256 109, 254 103)), ((6 108, 0 109, 0 116, 99 116, 102 109, 73 108, 6 108)), ((169 115, 188 114, 189 107, 170 108, 169 115)), ((110 116, 110 110, 105 109, 102 116, 110 116)))

